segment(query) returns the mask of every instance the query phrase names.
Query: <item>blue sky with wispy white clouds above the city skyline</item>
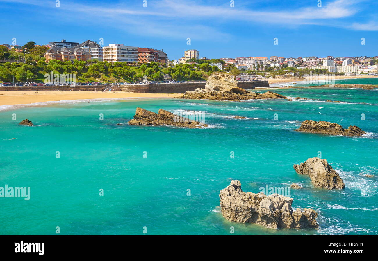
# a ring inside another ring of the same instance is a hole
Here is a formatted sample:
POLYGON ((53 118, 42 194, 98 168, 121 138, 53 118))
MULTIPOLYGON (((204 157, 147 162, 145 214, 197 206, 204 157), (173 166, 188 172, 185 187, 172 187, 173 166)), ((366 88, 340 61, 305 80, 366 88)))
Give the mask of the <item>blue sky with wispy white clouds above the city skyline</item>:
POLYGON ((378 55, 378 1, 233 2, 60 0, 56 7, 56 0, 0 0, 0 44, 103 38, 105 46, 163 49, 169 59, 186 49, 208 58, 378 55))

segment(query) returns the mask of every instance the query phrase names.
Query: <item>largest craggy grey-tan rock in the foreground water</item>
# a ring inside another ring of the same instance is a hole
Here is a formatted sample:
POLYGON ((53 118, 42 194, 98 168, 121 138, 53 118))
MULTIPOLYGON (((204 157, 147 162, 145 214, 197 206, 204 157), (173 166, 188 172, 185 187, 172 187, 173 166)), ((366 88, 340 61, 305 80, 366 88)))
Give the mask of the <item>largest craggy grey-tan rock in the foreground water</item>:
POLYGON ((292 209, 293 198, 279 194, 243 192, 239 180, 219 193, 223 216, 233 222, 256 223, 270 228, 316 229, 318 213, 313 209, 292 209))

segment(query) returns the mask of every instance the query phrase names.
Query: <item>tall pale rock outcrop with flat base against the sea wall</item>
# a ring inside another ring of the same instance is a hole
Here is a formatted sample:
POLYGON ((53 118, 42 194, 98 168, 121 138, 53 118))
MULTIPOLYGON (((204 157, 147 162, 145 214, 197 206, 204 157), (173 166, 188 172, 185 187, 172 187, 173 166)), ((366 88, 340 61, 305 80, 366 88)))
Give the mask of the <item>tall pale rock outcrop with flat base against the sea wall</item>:
POLYGON ((275 92, 259 94, 249 92, 237 87, 235 76, 221 72, 214 72, 206 81, 205 88, 197 88, 194 91, 186 91, 181 99, 206 99, 206 100, 259 100, 259 99, 282 99, 283 95, 275 92))

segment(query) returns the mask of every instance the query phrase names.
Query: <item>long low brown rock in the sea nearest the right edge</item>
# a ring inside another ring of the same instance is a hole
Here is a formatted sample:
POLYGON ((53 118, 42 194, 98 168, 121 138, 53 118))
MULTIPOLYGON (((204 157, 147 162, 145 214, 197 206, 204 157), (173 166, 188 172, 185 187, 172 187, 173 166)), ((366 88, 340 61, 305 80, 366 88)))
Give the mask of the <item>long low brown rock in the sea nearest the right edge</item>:
POLYGON ((305 120, 304 122, 302 122, 301 127, 299 127, 299 129, 296 129, 296 131, 343 136, 362 136, 366 134, 366 132, 364 132, 357 126, 349 126, 348 129, 343 129, 342 126, 337 123, 310 120, 305 120))

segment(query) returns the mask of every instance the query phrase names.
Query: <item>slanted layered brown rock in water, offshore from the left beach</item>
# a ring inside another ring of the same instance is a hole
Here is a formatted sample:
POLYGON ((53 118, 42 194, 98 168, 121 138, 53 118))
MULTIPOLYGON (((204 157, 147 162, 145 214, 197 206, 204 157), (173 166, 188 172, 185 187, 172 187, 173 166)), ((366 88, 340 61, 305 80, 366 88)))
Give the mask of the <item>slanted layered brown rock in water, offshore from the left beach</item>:
POLYGON ((134 118, 128 122, 130 125, 172 125, 189 128, 207 127, 207 124, 193 121, 172 112, 159 109, 159 113, 136 108, 134 118))

